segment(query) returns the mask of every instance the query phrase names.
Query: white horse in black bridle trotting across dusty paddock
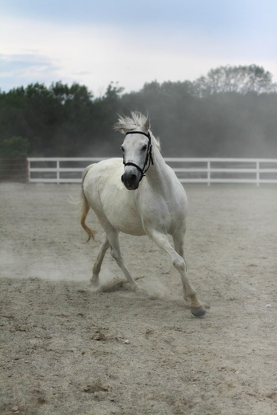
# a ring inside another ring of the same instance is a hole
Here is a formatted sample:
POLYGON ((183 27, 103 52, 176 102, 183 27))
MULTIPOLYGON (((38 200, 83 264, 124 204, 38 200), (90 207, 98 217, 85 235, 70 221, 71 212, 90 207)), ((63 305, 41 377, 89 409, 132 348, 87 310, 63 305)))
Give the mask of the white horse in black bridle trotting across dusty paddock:
MULTIPOLYGON (((120 117, 115 129, 125 134, 122 159, 108 159, 86 167, 82 175, 81 225, 94 239, 95 230, 85 223, 90 207, 105 233, 93 266, 91 284, 99 285, 101 264, 110 247, 111 255, 124 272, 132 291, 146 293, 128 271, 120 250, 118 233, 147 235, 169 254, 179 271, 184 298, 196 317, 206 310, 196 297, 184 260, 184 236, 188 202, 183 186, 160 153, 159 140, 150 131, 149 115, 132 112, 120 117), (124 164, 124 166, 123 166, 124 164), (172 235, 174 248, 168 240, 172 235)), ((88 242, 87 241, 87 242, 88 242)))

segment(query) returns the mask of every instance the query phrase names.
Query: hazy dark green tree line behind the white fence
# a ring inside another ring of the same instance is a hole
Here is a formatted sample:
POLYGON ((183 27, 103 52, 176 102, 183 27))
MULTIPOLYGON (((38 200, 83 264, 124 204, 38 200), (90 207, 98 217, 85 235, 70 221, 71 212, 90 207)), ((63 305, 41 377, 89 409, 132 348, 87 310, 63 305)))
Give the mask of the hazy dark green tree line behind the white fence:
POLYGON ((95 98, 85 85, 0 90, 0 158, 121 155, 117 114, 150 113, 164 156, 277 156, 277 87, 257 65, 220 66, 195 81, 116 83, 95 98))

